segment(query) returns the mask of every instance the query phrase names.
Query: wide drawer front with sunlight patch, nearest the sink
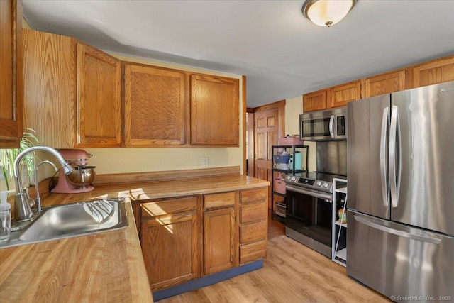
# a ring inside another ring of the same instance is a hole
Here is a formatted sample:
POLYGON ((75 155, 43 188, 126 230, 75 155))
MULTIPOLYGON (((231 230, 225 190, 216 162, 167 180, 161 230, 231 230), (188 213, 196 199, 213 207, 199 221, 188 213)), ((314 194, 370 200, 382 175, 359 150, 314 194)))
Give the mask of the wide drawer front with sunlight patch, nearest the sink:
POLYGON ((163 216, 166 214, 177 214, 184 211, 196 211, 197 197, 148 202, 140 204, 140 207, 142 208, 142 219, 153 216, 163 216))

